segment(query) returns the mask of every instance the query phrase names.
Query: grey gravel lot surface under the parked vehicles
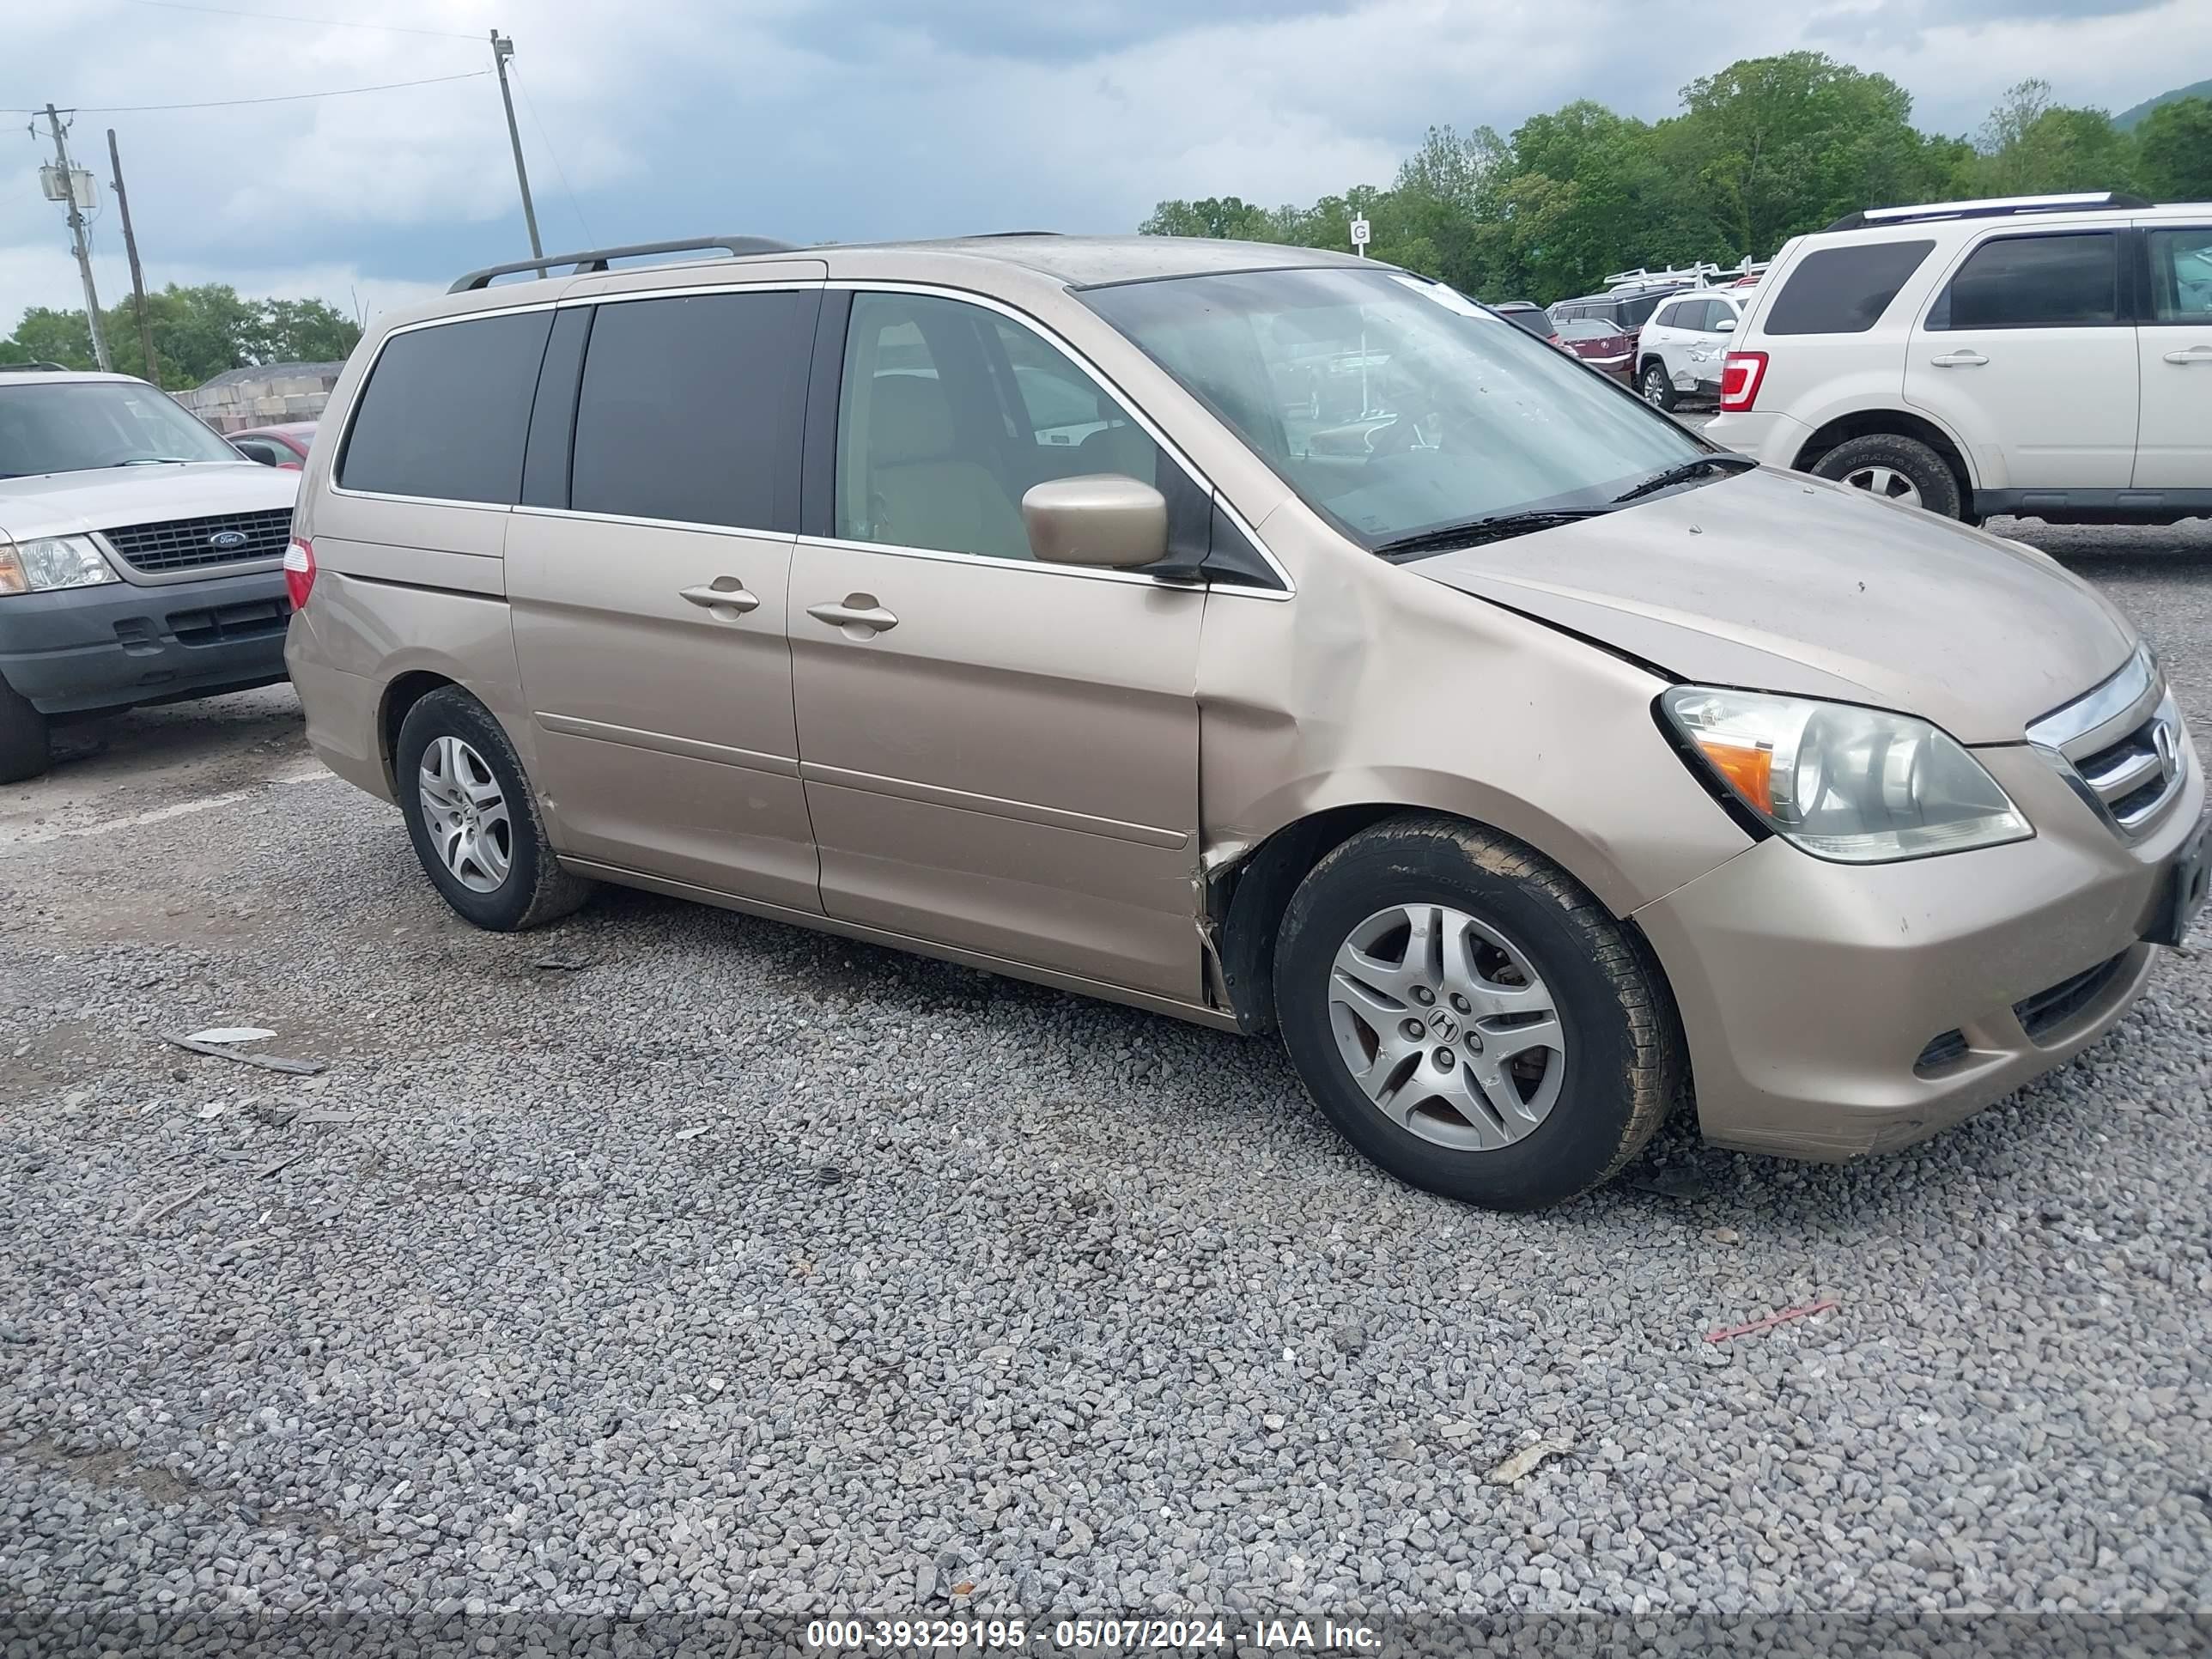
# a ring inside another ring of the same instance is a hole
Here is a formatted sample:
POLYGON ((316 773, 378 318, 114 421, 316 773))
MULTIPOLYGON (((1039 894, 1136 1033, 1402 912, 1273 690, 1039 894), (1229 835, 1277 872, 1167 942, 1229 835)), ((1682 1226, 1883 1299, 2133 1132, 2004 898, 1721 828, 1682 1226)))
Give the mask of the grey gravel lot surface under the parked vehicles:
MULTIPOLYGON (((2212 732, 2212 526, 1997 529, 2212 732)), ((1905 1155, 1672 1124, 1504 1219, 1363 1166, 1270 1044, 641 894, 476 933, 270 690, 0 790, 0 1644, 2212 1608, 2201 956, 1905 1155), (155 1040, 212 1024, 330 1068, 155 1040)))

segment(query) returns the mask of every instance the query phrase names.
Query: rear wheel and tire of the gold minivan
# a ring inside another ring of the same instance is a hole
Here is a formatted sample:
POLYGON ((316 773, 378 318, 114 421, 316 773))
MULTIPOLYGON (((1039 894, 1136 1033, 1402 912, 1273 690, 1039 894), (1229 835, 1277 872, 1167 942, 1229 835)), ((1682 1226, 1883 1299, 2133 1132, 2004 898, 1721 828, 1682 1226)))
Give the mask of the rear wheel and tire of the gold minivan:
POLYGON ((469 692, 445 686, 409 708, 392 759, 422 874, 462 918, 515 933, 591 898, 546 841, 515 745, 469 692))

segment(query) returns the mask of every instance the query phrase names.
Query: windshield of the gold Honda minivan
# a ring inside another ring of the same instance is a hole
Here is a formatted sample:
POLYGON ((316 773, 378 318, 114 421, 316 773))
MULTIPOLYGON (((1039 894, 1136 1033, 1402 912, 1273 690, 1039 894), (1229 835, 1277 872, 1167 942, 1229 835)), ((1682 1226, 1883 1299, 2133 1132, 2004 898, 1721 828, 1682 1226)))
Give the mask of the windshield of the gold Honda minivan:
POLYGON ((1566 352, 1402 272, 1175 276, 1082 299, 1367 549, 1604 509, 1710 453, 1566 352))

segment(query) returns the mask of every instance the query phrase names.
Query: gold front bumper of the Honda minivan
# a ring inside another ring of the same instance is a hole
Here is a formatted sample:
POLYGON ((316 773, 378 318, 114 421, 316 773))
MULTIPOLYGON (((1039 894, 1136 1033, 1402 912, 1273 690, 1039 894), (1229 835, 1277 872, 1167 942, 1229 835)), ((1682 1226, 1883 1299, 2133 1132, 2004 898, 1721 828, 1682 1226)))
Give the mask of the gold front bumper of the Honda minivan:
POLYGON ((1774 836, 1635 914, 1681 1009, 1705 1139, 1812 1159, 1907 1146, 2062 1064, 2141 993, 2203 770, 2130 845, 2026 745, 1975 757, 2033 841, 1834 865, 1774 836))

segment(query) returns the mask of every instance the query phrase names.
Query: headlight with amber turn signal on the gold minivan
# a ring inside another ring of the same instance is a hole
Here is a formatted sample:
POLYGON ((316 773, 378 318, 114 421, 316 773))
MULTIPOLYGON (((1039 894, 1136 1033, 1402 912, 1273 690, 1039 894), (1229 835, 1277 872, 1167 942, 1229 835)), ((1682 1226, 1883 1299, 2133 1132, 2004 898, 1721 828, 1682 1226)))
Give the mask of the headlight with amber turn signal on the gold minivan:
POLYGON ((1911 714, 1705 686, 1659 708, 1734 799, 1818 858, 1876 865, 2035 834, 1980 761, 1911 714))

